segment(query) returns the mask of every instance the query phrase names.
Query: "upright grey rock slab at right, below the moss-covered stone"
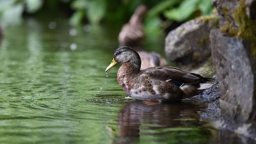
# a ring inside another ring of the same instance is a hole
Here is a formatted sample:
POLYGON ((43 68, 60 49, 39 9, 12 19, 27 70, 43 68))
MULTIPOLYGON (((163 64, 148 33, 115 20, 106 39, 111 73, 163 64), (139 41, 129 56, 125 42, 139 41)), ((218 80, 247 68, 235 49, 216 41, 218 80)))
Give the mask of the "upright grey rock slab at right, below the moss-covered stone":
MULTIPOLYGON (((255 123, 256 65, 246 40, 223 36, 212 30, 212 60, 220 86, 221 116, 227 129, 238 129, 244 123, 255 123)), ((253 129, 253 128, 252 128, 253 129)))

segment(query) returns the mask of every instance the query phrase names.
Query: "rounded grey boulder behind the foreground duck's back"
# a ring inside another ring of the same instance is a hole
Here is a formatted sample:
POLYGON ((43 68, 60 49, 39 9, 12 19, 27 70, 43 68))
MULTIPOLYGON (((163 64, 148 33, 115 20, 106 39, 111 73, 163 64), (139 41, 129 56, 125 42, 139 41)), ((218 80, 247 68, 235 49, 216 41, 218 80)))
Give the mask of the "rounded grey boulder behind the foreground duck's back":
POLYGON ((202 62, 211 55, 209 33, 218 26, 216 15, 190 20, 171 31, 165 39, 170 61, 181 64, 202 62))

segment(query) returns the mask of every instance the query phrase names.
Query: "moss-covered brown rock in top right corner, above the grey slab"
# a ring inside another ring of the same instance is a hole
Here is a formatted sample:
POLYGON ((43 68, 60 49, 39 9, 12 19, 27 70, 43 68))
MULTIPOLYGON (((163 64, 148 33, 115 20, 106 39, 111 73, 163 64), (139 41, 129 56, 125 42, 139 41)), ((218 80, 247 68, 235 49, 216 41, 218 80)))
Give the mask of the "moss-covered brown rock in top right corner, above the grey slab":
POLYGON ((220 15, 220 30, 227 36, 236 36, 250 42, 256 56, 256 0, 218 0, 216 8, 220 15))

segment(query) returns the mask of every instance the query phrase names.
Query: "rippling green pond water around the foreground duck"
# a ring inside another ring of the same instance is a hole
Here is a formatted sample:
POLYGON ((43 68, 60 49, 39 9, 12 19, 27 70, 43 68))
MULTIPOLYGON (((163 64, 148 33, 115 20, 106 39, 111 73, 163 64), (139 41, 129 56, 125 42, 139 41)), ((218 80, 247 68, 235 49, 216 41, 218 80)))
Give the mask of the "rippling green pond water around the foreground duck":
MULTIPOLYGON (((0 143, 208 143, 212 132, 198 115, 202 104, 124 99, 117 67, 104 72, 118 30, 74 30, 66 20, 49 29, 49 22, 33 19, 5 28, 0 143)), ((163 39, 145 45, 163 52, 163 39)))

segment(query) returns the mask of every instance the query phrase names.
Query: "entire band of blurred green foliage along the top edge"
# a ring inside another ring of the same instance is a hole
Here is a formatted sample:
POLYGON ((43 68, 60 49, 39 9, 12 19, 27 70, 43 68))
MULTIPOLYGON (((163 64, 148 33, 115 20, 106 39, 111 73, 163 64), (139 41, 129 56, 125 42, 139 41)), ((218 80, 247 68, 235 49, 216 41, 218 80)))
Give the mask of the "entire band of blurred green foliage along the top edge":
POLYGON ((211 0, 0 0, 0 19, 2 22, 15 23, 15 20, 21 19, 22 13, 33 14, 42 10, 43 6, 58 11, 60 3, 70 5, 70 12, 74 10, 70 17, 72 25, 79 25, 84 20, 91 24, 100 22, 123 24, 141 3, 148 6, 146 29, 159 28, 163 18, 169 21, 165 22, 166 25, 171 24, 172 21, 184 22, 212 12, 211 0))

